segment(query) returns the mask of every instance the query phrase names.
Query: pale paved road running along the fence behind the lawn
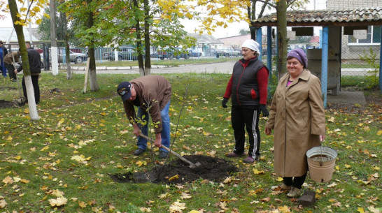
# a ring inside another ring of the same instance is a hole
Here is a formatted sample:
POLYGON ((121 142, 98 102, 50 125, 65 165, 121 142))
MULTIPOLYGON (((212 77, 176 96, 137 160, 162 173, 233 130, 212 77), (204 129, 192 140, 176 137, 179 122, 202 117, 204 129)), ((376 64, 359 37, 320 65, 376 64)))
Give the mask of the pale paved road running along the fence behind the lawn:
MULTIPOLYGON (((236 61, 220 62, 213 64, 188 64, 177 67, 159 67, 153 66, 151 73, 232 73, 232 68, 236 61)), ((74 73, 85 73, 83 67, 73 67, 74 73), (76 69, 79 70, 76 70, 76 69)), ((111 74, 138 74, 138 67, 105 67, 97 66, 97 73, 111 73, 111 74)))

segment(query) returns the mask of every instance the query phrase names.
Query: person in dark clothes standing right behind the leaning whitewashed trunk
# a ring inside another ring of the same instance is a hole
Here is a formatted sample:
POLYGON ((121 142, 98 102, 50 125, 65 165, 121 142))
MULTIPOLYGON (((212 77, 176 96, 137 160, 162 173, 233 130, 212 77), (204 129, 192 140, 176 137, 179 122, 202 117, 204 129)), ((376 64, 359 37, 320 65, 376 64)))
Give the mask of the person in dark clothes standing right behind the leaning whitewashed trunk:
MULTIPOLYGON (((41 56, 40 54, 34 50, 33 47, 31 47, 31 43, 27 41, 25 43, 27 46, 27 52, 28 52, 28 59, 29 59, 29 69, 31 71, 31 81, 34 88, 34 100, 36 101, 36 104, 40 103, 40 87, 38 86, 38 78, 40 77, 41 73, 41 56)), ((25 63, 25 61, 23 62, 25 63)), ((15 70, 15 73, 20 73, 22 71, 22 64, 17 70, 15 70)), ((28 102, 27 97, 27 87, 25 87, 25 79, 24 76, 22 77, 22 91, 24 92, 24 97, 28 102)))

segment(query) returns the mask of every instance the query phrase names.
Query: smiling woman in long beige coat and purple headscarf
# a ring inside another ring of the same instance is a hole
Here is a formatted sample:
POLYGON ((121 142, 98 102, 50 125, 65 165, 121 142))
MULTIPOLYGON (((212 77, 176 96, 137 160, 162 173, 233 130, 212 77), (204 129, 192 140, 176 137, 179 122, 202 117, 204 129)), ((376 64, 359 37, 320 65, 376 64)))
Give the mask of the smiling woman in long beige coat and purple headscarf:
POLYGON ((325 114, 320 80, 306 69, 301 49, 288 53, 288 73, 278 82, 265 133, 274 128, 274 169, 283 177, 287 196, 301 195, 308 170, 306 151, 325 139, 325 114))

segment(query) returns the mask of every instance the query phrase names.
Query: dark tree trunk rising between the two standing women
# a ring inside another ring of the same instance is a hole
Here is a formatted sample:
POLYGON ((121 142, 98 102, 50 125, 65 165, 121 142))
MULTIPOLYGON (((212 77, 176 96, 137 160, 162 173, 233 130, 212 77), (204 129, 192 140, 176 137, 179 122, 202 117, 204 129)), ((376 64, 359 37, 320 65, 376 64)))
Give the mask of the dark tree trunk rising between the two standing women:
POLYGON ((278 61, 276 69, 278 72, 278 80, 286 73, 286 57, 288 50, 287 38, 287 20, 286 20, 286 1, 278 1, 276 4, 277 14, 277 42, 278 42, 278 61))

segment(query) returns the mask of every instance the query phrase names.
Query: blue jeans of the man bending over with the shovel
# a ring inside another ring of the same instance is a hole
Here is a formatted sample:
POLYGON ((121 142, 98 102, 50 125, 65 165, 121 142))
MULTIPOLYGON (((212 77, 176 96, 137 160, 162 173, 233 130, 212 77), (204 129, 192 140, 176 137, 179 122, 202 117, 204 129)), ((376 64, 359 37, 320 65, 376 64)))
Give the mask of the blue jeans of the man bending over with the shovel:
MULTIPOLYGON (((170 101, 167 103, 167 105, 163 108, 162 111, 160 111, 160 115, 162 117, 162 145, 166 147, 170 147, 170 116, 169 116, 169 108, 170 108, 170 101)), ((146 125, 142 126, 141 124, 138 124, 139 128, 141 129, 141 132, 143 135, 148 135, 148 112, 146 110, 143 110, 141 107, 138 108, 138 118, 142 119, 143 122, 146 123, 146 125), (142 119, 142 116, 145 115, 145 117, 142 119)), ((153 138, 155 139, 155 138, 153 138)), ((146 150, 147 148, 147 140, 142 137, 138 137, 138 142, 136 142, 136 145, 146 150)), ((167 152, 166 149, 160 148, 161 151, 167 152)))

